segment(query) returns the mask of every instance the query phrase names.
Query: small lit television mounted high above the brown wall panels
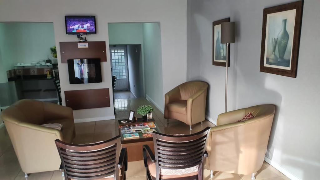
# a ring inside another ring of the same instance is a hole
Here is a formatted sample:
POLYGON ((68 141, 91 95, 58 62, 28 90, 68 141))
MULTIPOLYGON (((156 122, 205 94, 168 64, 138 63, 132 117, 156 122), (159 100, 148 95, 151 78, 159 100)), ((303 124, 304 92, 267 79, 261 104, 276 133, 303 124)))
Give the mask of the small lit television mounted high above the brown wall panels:
POLYGON ((95 16, 65 16, 67 34, 97 34, 95 16))

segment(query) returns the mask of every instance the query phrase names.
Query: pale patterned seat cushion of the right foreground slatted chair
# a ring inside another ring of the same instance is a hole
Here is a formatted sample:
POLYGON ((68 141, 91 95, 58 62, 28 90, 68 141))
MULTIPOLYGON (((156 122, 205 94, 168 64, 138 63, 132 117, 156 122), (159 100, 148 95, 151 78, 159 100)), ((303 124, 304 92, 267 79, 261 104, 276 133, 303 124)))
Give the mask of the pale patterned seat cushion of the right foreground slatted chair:
MULTIPOLYGON (((156 163, 148 158, 148 169, 150 175, 156 177, 156 163)), ((160 169, 161 179, 170 179, 177 177, 188 177, 198 175, 199 165, 185 169, 160 169)))

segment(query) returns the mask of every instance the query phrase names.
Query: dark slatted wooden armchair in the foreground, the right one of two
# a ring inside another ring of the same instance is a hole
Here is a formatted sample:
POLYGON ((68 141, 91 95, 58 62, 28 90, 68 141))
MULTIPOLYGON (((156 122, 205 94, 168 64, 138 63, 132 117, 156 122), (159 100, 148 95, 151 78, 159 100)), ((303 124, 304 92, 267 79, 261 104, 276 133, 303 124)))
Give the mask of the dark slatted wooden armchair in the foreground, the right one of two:
POLYGON ((148 180, 202 180, 209 127, 192 135, 153 132, 155 155, 143 145, 148 180))

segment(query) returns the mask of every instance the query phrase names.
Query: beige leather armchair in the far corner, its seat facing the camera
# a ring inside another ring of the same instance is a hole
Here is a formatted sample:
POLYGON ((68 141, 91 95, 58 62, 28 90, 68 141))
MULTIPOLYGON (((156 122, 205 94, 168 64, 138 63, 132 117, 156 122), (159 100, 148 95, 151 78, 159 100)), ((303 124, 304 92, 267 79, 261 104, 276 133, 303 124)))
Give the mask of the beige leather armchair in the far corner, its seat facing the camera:
POLYGON ((208 84, 189 81, 164 95, 164 118, 180 120, 190 126, 204 121, 208 84))

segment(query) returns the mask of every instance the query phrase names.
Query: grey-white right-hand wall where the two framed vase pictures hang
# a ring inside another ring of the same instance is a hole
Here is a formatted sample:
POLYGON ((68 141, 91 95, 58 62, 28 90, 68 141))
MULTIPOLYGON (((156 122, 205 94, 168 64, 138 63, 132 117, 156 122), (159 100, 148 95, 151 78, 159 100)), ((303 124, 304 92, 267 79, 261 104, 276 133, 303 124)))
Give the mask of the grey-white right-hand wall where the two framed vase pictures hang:
POLYGON ((212 21, 236 22, 228 75, 228 110, 276 105, 266 156, 292 179, 319 179, 320 1, 305 0, 297 78, 263 73, 260 50, 263 9, 291 0, 188 0, 187 79, 210 84, 207 114, 224 111, 225 68, 212 66, 212 21))

